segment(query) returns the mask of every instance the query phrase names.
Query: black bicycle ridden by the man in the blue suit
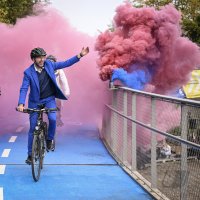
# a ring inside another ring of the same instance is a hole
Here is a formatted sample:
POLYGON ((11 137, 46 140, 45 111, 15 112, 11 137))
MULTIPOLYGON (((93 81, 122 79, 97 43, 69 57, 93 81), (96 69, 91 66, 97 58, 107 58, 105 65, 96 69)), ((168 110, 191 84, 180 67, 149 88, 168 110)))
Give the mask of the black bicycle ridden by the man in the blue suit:
POLYGON ((33 132, 33 144, 32 144, 32 176, 35 182, 40 178, 41 169, 43 169, 43 160, 45 157, 46 139, 47 139, 47 123, 43 121, 43 113, 49 113, 57 111, 57 108, 44 108, 43 105, 39 105, 39 109, 26 108, 24 113, 31 114, 33 112, 38 113, 37 124, 33 132))

